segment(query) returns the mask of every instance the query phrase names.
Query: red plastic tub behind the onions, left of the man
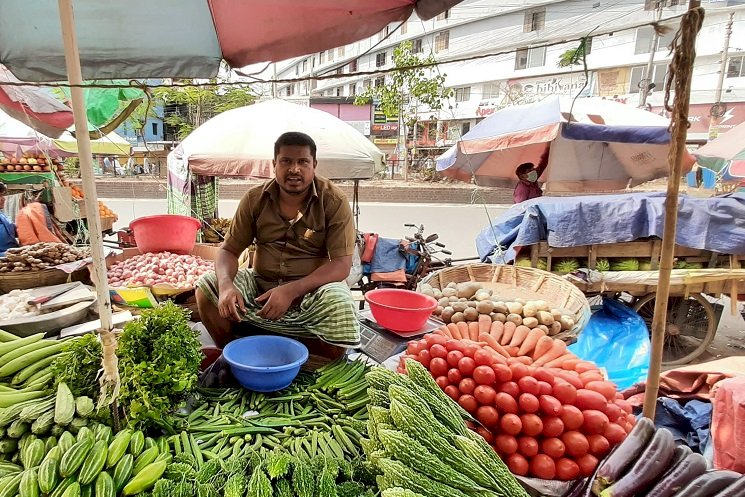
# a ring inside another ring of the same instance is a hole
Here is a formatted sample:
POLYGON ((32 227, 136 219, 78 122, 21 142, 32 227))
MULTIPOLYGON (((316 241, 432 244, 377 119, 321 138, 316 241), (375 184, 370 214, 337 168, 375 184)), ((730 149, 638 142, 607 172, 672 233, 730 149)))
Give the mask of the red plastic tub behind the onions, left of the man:
POLYGON ((145 216, 129 223, 141 254, 166 251, 190 254, 200 226, 193 217, 176 214, 145 216))

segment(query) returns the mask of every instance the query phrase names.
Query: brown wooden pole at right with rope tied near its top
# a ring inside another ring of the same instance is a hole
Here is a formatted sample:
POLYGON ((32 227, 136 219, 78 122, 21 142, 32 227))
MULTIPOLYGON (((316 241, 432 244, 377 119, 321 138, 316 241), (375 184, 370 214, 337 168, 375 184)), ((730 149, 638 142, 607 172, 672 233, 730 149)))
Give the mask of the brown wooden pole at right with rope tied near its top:
MULTIPOLYGON (((691 99, 691 79, 693 62, 696 58, 696 35, 701 29, 704 12, 699 9, 697 0, 691 0, 689 10, 680 22, 680 30, 673 40, 673 60, 670 64, 675 99, 671 120, 671 147, 668 155, 670 176, 667 179, 665 198, 665 229, 662 235, 660 271, 652 318, 652 351, 649 358, 649 374, 644 394, 644 416, 654 420, 657 408, 657 395, 660 388, 662 353, 665 345, 665 325, 667 323, 667 304, 670 296, 670 272, 675 255, 675 228, 678 221, 678 192, 683 171, 685 142, 688 133, 688 104, 691 99)), ((667 93, 666 88, 666 93, 667 93)), ((666 94, 665 106, 667 107, 666 94)))

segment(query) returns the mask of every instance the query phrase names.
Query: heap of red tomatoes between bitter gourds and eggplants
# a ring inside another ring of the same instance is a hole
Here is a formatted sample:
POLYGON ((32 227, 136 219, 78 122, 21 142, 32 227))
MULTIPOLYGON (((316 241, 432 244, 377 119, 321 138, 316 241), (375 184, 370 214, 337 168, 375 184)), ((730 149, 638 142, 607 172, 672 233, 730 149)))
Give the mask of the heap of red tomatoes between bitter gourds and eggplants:
POLYGON ((480 423, 477 431, 517 475, 546 480, 591 476, 635 423, 631 405, 591 362, 533 366, 484 342, 432 333, 409 342, 405 359, 430 371, 445 393, 480 423))

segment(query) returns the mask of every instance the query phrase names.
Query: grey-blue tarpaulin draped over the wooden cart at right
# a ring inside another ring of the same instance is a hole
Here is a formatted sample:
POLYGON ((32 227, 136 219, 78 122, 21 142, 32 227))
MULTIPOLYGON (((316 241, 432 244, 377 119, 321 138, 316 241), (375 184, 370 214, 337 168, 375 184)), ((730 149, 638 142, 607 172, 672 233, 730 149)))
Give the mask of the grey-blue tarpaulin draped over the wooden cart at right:
MULTIPOLYGON (((662 238, 664 193, 540 197, 514 205, 476 237, 485 262, 508 263, 516 249, 547 241, 576 247, 662 238), (498 241, 504 251, 495 256, 498 241)), ((683 247, 745 254, 745 194, 680 197, 676 242, 683 247)))

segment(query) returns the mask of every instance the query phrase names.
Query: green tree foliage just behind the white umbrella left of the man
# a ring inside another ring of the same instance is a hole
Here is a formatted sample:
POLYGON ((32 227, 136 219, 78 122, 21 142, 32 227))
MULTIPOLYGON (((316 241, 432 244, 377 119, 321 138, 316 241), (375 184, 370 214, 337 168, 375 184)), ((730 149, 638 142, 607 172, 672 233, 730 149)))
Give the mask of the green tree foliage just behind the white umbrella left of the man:
POLYGON ((166 113, 164 122, 177 128, 180 140, 217 114, 251 105, 256 100, 256 93, 248 85, 220 86, 215 79, 205 86, 155 88, 153 95, 164 105, 176 106, 177 111, 166 113))

